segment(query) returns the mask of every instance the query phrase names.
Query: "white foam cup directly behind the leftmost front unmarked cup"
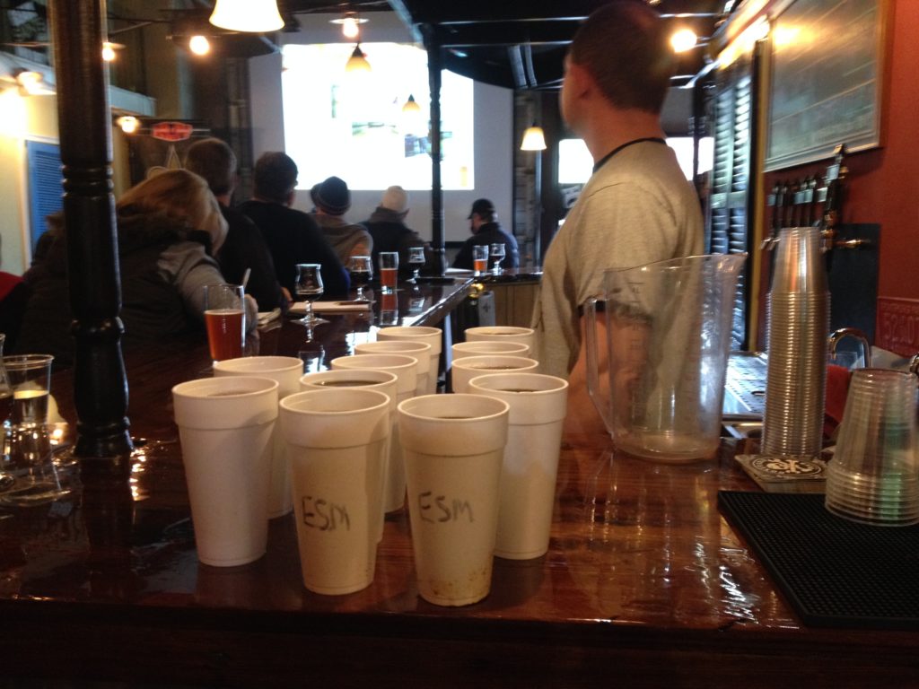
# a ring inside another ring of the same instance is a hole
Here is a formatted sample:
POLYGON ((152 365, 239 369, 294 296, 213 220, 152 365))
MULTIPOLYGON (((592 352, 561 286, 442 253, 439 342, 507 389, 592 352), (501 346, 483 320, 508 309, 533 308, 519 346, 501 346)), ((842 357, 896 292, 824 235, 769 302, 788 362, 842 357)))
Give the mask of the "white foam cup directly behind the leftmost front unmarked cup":
MULTIPOLYGON (((243 356, 214 362, 215 376, 261 376, 278 381, 278 400, 300 390, 303 360, 297 356, 243 356)), ((268 518, 289 514, 293 509, 290 499, 290 466, 287 445, 278 426, 271 439, 271 482, 268 489, 268 518)))

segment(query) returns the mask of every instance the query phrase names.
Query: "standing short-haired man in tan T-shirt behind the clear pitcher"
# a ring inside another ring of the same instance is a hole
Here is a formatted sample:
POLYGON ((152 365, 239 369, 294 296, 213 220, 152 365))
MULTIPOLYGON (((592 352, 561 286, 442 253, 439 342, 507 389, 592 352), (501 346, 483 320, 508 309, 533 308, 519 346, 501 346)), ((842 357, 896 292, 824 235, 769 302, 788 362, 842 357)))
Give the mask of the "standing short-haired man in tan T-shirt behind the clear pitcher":
POLYGON ((573 370, 579 309, 602 291, 604 270, 702 252, 698 197, 660 123, 673 64, 661 17, 640 0, 610 2, 574 36, 562 118, 595 165, 543 266, 533 326, 544 373, 573 370))

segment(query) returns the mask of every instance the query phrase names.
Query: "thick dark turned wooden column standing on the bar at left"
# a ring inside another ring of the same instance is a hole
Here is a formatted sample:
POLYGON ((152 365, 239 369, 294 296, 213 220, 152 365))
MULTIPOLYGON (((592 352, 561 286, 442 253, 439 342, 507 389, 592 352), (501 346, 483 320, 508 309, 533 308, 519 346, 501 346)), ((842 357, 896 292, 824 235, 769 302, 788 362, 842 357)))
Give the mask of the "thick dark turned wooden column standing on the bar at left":
POLYGON ((105 0, 51 0, 63 214, 76 343, 74 453, 84 472, 130 471, 128 380, 121 358, 118 235, 112 194, 105 0))

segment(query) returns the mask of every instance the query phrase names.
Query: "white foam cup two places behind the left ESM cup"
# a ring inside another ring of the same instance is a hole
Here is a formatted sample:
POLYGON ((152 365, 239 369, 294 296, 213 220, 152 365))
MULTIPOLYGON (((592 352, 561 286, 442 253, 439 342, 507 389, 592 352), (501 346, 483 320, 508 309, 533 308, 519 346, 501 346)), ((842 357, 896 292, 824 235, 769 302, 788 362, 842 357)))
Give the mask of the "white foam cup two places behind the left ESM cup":
MULTIPOLYGON (((414 397, 418 385, 418 359, 403 354, 357 354, 339 356, 332 360, 332 369, 358 368, 369 371, 389 371, 398 378, 396 384, 396 401, 401 402, 414 397)), ((392 421, 390 454, 384 472, 383 509, 386 512, 400 510, 405 504, 405 465, 402 443, 399 441, 399 428, 392 421)))

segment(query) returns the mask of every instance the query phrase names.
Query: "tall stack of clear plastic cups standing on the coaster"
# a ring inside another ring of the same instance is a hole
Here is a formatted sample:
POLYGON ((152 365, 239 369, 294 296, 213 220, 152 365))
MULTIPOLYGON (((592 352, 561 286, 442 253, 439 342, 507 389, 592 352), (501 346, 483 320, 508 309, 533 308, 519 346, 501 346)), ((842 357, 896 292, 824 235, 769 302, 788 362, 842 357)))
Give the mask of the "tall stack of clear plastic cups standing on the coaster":
POLYGON ((830 292, 820 230, 782 230, 768 297, 764 455, 814 457, 823 446, 830 292))

